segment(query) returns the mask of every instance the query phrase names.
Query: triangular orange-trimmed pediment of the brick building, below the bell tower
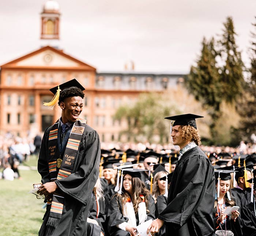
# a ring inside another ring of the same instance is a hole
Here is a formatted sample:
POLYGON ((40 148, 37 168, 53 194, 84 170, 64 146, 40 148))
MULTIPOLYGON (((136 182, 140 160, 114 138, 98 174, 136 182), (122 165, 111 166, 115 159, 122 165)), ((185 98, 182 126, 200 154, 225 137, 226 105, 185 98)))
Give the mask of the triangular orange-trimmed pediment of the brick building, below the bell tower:
POLYGON ((94 67, 50 46, 40 48, 37 51, 8 62, 2 65, 1 68, 96 70, 94 67))

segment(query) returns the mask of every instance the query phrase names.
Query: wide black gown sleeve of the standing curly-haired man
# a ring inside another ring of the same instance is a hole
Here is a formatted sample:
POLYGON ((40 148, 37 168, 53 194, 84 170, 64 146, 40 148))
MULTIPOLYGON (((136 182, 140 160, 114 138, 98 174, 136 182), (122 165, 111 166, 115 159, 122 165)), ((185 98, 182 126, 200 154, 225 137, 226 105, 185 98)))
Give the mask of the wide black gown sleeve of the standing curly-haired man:
POLYGON ((204 199, 207 177, 213 172, 206 158, 198 154, 187 158, 179 167, 181 171, 177 175, 175 186, 177 195, 158 216, 165 223, 173 223, 178 228, 187 222, 204 199))

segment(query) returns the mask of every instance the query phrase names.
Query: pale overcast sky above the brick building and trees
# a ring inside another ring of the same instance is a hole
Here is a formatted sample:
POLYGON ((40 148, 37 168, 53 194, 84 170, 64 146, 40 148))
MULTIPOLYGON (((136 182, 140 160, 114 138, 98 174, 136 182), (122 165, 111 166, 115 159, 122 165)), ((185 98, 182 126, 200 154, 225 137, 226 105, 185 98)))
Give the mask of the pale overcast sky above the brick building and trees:
MULTIPOLYGON (((40 13, 46 0, 0 1, 0 65, 39 49, 40 13)), ((248 62, 255 0, 58 0, 60 47, 97 68, 187 73, 203 36, 218 39, 232 16, 236 41, 248 62)))

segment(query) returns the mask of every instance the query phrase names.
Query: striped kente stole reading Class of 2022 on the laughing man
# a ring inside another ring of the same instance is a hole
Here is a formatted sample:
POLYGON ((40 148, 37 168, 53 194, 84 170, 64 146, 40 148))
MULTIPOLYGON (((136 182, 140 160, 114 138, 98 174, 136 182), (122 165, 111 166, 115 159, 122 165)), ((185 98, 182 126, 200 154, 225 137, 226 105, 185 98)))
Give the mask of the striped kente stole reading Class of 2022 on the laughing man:
MULTIPOLYGON (((49 175, 51 181, 66 178, 71 174, 76 156, 78 154, 82 135, 86 126, 86 120, 79 118, 73 124, 63 154, 63 160, 61 160, 60 157, 57 155, 59 124, 60 122, 57 121, 53 125, 52 129, 50 130, 48 140, 49 175)), ((56 227, 58 226, 63 211, 64 195, 61 193, 61 191, 58 191, 57 189, 53 193, 52 201, 48 202, 48 204, 51 204, 51 208, 47 226, 48 228, 52 228, 51 230, 48 230, 48 235, 51 235, 54 229, 56 229, 56 227)))

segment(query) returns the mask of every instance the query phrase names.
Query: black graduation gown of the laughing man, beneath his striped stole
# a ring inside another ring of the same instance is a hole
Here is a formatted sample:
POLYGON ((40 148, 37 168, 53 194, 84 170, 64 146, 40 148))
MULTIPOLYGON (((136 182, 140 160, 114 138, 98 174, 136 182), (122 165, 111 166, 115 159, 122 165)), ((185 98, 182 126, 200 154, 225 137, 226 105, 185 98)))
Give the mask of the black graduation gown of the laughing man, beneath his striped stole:
MULTIPOLYGON (((48 166, 48 138, 50 128, 46 129, 38 157, 38 172, 42 183, 50 182, 48 166)), ((59 138, 59 137, 58 137, 59 138)), ((86 222, 91 202, 91 192, 99 176, 101 148, 98 133, 86 125, 74 167, 67 178, 56 180, 64 193, 64 206, 58 227, 53 236, 86 236, 86 222)), ((49 205, 48 205, 49 206, 49 205)), ((50 207, 46 208, 40 233, 46 231, 50 207)))

